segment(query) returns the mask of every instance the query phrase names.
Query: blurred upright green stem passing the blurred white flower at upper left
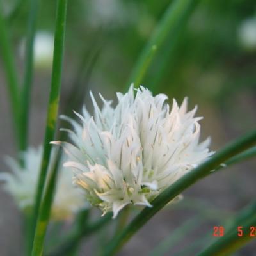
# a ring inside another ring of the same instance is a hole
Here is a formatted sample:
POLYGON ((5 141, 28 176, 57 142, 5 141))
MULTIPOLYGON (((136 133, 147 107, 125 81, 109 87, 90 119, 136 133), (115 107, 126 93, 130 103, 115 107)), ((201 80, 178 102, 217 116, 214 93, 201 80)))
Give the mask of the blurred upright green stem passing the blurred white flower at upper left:
POLYGON ((24 151, 28 145, 29 127, 29 105, 31 96, 31 86, 33 79, 33 45, 36 31, 36 17, 38 13, 39 0, 30 0, 30 12, 28 17, 28 31, 26 37, 26 60, 24 81, 22 84, 20 129, 22 134, 21 150, 24 151))

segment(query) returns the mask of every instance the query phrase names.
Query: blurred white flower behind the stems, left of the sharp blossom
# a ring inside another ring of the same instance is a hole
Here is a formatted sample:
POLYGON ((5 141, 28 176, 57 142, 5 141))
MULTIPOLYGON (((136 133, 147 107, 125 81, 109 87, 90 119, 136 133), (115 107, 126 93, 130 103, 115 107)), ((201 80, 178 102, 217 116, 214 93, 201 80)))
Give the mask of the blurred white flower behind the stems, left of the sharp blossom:
MULTIPOLYGON (((8 158, 7 163, 12 173, 0 173, 0 180, 4 182, 4 189, 13 196, 20 209, 26 211, 33 206, 40 173, 42 147, 28 148, 21 156, 25 167, 20 167, 15 159, 8 158)), ((83 193, 72 184, 71 170, 61 168, 58 175, 51 216, 54 220, 65 220, 72 218, 76 211, 86 206, 86 202, 83 193)))

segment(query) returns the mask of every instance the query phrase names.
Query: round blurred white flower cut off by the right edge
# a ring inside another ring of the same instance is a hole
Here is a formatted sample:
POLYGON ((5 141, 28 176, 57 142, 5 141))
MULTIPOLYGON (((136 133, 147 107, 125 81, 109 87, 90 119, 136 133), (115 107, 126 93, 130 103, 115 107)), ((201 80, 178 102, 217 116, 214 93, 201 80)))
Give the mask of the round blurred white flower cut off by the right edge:
POLYGON ((244 49, 256 50, 256 17, 244 20, 238 28, 238 38, 244 49))

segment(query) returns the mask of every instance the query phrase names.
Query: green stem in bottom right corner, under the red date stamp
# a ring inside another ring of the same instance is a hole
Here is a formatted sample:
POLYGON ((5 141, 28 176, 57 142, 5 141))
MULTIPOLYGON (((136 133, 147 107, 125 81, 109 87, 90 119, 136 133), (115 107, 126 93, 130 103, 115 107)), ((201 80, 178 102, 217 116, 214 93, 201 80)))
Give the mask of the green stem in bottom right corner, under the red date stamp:
MULTIPOLYGON (((245 211, 237 216, 234 226, 229 228, 229 232, 212 243, 198 256, 226 256, 232 252, 236 252, 244 244, 252 241, 256 236, 250 236, 250 227, 256 226, 256 203, 254 202, 245 211), (243 236, 237 236, 237 225, 243 227, 243 236)), ((255 234, 254 234, 255 235, 255 234)))

